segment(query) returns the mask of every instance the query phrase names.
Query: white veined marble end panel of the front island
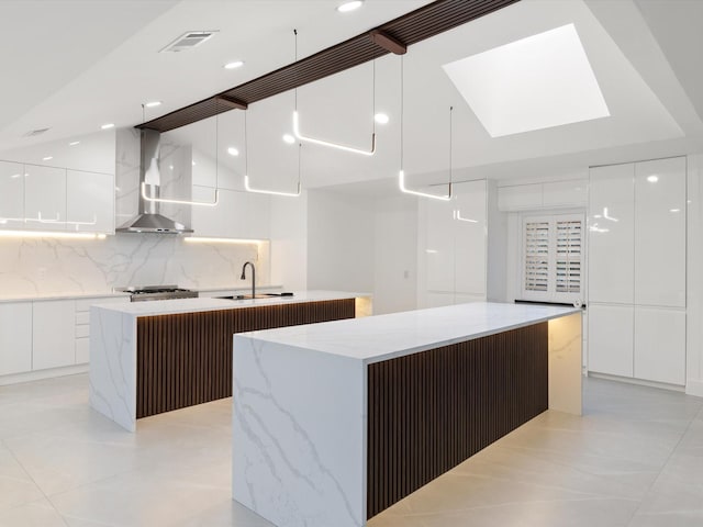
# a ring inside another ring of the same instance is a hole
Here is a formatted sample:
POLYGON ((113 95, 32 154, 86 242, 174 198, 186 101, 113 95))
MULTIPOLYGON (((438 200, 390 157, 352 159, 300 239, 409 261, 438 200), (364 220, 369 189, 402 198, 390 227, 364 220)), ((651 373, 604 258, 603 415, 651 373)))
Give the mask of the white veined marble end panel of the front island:
POLYGON ((233 497, 275 525, 364 525, 361 365, 234 341, 233 497))

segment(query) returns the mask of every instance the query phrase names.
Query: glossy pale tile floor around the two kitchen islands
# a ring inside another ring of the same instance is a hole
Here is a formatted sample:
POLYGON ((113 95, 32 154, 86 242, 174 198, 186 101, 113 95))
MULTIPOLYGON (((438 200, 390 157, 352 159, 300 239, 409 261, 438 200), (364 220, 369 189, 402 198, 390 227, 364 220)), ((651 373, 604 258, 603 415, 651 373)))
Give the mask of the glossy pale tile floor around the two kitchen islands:
MULTIPOLYGON (((703 400, 588 379, 369 527, 703 526, 703 400)), ((88 378, 0 386, 0 526, 270 524, 230 498, 231 401, 140 422, 88 407, 88 378)), ((334 526, 330 526, 334 527, 334 526)))

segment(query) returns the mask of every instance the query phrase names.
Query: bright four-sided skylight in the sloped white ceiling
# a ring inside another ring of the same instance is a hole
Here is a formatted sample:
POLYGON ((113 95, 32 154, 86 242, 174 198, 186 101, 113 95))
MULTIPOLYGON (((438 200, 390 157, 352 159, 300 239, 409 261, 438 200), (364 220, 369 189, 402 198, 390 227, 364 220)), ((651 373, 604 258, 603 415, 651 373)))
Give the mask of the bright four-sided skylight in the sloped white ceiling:
POLYGON ((573 24, 443 67, 491 137, 610 116, 573 24))

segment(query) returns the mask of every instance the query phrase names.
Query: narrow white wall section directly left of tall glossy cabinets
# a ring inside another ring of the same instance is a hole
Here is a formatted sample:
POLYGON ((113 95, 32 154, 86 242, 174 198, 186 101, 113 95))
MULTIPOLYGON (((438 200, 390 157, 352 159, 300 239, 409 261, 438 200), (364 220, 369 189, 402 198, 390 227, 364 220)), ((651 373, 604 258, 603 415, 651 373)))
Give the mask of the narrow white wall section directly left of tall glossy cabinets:
POLYGON ((399 195, 378 200, 373 236, 373 313, 397 313, 417 305, 417 200, 399 195))

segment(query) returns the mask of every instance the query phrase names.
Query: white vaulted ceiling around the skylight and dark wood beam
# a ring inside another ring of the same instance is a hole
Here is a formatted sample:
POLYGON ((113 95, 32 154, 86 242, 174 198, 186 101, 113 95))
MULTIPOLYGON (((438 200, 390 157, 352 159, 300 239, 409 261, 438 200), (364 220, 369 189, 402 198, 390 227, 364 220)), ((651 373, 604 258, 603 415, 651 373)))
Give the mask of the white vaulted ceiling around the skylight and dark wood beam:
MULTIPOLYGON (((335 0, 0 1, 7 52, 0 55, 0 150, 85 135, 105 122, 133 126, 141 103, 161 100, 146 119, 258 77, 429 3, 367 0, 337 13, 335 0), (217 30, 191 52, 157 53, 187 31, 217 30), (243 59, 245 66, 222 65, 243 59), (7 79, 15 79, 8 82, 7 79), (51 127, 41 137, 23 135, 51 127)), ((404 159, 410 184, 439 182, 453 165, 461 177, 526 177, 588 165, 703 150, 703 2, 695 0, 523 0, 411 46, 404 57, 404 159), (504 137, 491 137, 442 66, 567 24, 574 24, 611 116, 504 137), (698 112, 696 112, 698 110, 698 112)), ((303 146, 303 187, 395 178, 400 168, 400 58, 376 64, 377 154, 367 158, 303 146)), ((294 184, 297 148, 292 93, 247 111, 249 175, 259 187, 294 184)), ((372 131, 372 65, 298 90, 304 134, 368 147, 372 131)), ((244 172, 244 113, 174 131, 204 155, 244 172), (215 134, 216 132, 216 134, 215 134), (217 143, 215 146, 215 136, 217 143), (236 146, 242 155, 226 155, 236 146), (215 152, 216 150, 216 152, 215 152)), ((386 188, 387 186, 382 186, 386 188)), ((378 184, 370 186, 378 189, 378 184)))

